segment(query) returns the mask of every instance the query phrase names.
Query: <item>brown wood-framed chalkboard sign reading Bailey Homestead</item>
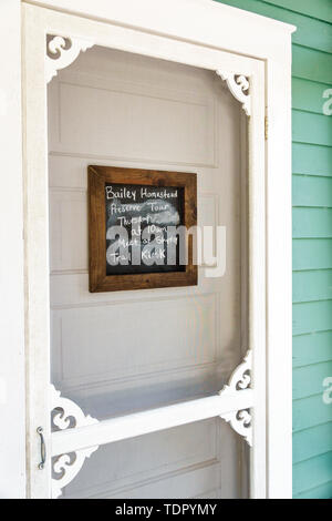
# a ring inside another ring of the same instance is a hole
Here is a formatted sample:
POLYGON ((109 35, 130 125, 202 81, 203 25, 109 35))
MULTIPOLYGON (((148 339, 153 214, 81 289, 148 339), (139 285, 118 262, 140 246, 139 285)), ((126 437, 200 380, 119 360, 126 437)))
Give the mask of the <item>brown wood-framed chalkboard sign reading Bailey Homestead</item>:
POLYGON ((89 166, 90 292, 197 284, 196 174, 89 166), (186 255, 184 256, 184 253, 186 255))

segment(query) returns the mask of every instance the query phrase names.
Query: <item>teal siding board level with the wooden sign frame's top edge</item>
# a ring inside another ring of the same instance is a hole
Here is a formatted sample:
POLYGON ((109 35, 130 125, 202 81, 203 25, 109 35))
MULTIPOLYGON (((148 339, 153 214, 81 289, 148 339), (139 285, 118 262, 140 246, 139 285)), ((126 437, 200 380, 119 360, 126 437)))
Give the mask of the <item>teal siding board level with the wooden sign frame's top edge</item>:
POLYGON ((295 174, 332 176, 332 147, 293 143, 292 171, 295 174))

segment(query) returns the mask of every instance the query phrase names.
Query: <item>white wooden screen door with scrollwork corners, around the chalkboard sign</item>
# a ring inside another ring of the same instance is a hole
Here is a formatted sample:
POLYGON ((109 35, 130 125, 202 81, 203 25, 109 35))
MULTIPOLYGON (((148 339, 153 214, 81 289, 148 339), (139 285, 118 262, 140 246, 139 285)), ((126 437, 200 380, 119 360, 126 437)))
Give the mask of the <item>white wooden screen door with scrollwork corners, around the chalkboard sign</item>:
POLYGON ((25 27, 31 496, 263 496, 262 64, 146 34, 133 54, 124 29, 31 6, 25 27), (225 273, 89 293, 89 164, 196 173, 225 273))

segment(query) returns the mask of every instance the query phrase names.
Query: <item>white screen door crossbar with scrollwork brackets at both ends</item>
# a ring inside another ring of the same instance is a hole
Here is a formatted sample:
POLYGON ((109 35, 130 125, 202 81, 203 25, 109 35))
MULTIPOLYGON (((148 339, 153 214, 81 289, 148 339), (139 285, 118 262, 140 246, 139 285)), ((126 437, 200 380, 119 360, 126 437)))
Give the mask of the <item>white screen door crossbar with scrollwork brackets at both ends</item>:
POLYGON ((216 396, 102 421, 85 416, 76 403, 61 397, 51 385, 51 419, 58 428, 51 435, 52 498, 62 494, 62 489, 80 472, 85 458, 101 445, 219 416, 251 446, 251 416, 248 412, 255 406, 253 391, 249 388, 251 360, 248 350, 229 384, 216 396))

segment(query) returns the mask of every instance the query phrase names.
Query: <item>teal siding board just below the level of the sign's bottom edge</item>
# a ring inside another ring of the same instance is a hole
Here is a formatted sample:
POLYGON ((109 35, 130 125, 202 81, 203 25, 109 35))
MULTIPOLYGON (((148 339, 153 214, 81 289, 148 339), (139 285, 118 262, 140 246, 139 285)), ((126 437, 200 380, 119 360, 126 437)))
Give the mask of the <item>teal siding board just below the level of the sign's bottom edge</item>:
POLYGON ((326 331, 331 328, 331 317, 332 300, 293 304, 293 335, 326 331))

